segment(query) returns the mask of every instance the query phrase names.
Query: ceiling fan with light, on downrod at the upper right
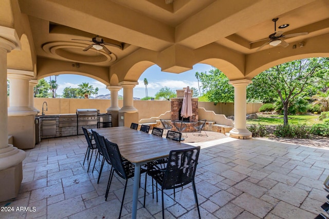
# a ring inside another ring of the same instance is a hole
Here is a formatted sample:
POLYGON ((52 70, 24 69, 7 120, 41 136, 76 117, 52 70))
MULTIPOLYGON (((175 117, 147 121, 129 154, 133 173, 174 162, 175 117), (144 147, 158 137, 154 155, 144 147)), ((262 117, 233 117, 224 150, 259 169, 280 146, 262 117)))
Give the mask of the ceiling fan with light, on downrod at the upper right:
MULTIPOLYGON (((252 43, 256 43, 256 42, 260 42, 260 41, 266 41, 268 40, 265 44, 263 44, 261 47, 259 47, 256 51, 262 49, 264 46, 266 46, 267 44, 271 45, 271 46, 278 46, 278 45, 281 45, 282 47, 287 47, 289 46, 289 44, 287 42, 284 41, 284 38, 289 38, 289 37, 295 37, 295 36, 301 36, 301 35, 307 35, 308 32, 301 32, 301 33, 291 33, 291 34, 286 34, 286 35, 283 35, 284 31, 277 31, 277 21, 278 21, 278 17, 277 18, 273 18, 272 19, 272 22, 274 22, 274 33, 270 34, 268 36, 268 38, 265 38, 265 39, 260 39, 258 41, 253 41, 253 42, 250 42, 250 44, 252 43)), ((285 28, 289 26, 288 24, 287 25, 282 25, 280 26, 281 28, 285 28)), ((279 27, 279 28, 280 28, 279 27)))

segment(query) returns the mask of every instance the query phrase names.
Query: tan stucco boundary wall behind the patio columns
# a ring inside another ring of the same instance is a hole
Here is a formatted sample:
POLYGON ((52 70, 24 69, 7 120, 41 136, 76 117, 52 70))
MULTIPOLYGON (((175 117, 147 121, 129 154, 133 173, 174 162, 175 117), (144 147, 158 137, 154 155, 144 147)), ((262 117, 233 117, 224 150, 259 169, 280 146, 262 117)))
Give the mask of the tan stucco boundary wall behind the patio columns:
MULTIPOLYGON (((40 110, 40 114, 44 101, 48 104, 46 114, 70 114, 83 108, 99 109, 100 112, 104 113, 111 106, 110 99, 34 98, 34 107, 40 110)), ((119 100, 119 107, 122 107, 122 104, 123 101, 119 100)), ((247 103, 247 114, 258 112, 261 106, 260 103, 247 103)), ((141 120, 142 118, 157 117, 170 111, 170 101, 134 101, 134 107, 138 109, 138 117, 141 120)), ((212 102, 198 102, 198 107, 205 108, 207 111, 214 111, 216 114, 234 115, 233 103, 214 105, 212 102)), ((44 109, 46 109, 46 105, 44 105, 44 109)))

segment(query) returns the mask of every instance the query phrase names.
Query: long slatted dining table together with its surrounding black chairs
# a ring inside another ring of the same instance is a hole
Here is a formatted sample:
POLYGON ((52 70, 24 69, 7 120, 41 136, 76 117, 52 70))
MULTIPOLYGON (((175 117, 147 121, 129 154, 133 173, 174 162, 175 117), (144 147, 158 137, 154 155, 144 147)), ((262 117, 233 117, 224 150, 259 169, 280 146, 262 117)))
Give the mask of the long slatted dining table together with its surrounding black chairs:
MULTIPOLYGON (((166 123, 163 124, 167 125, 166 123)), ((130 128, 110 127, 87 130, 82 127, 88 144, 83 163, 90 158, 87 172, 90 169, 90 164, 92 164, 94 150, 97 152, 92 172, 95 169, 97 159, 101 161, 97 184, 100 183, 105 163, 111 165, 105 201, 108 198, 113 175, 116 173, 125 180, 119 218, 121 217, 127 182, 132 177, 134 177, 132 218, 137 218, 138 190, 140 188, 140 174, 142 173, 145 173, 143 207, 145 207, 147 176, 149 175, 152 178, 152 194, 154 194, 153 182, 156 182, 157 201, 158 185, 161 187, 162 218, 165 218, 163 190, 173 189, 175 195, 176 188, 182 188, 188 184, 192 184, 198 217, 200 218, 194 182, 200 147, 182 143, 184 123, 177 122, 174 124, 178 131, 170 130, 169 126, 163 126, 165 129, 153 128, 151 134, 149 134, 149 126, 141 125, 140 130, 137 130, 138 124, 135 123, 132 123, 130 128), (166 129, 168 129, 166 137, 162 137, 163 131, 166 129), (89 156, 90 151, 91 155, 89 156)), ((198 134, 200 134, 204 124, 205 121, 196 123, 196 127, 200 128, 197 129, 198 134)))

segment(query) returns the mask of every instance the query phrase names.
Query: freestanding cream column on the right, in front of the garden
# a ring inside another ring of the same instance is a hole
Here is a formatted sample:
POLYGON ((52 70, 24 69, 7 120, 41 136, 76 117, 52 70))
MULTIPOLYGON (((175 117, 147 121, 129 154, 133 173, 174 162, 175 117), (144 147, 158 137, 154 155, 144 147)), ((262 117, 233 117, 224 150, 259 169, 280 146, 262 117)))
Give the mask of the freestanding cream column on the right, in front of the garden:
POLYGON ((234 128, 230 131, 230 137, 247 139, 252 136, 246 126, 247 86, 250 83, 248 79, 229 82, 234 87, 234 128))

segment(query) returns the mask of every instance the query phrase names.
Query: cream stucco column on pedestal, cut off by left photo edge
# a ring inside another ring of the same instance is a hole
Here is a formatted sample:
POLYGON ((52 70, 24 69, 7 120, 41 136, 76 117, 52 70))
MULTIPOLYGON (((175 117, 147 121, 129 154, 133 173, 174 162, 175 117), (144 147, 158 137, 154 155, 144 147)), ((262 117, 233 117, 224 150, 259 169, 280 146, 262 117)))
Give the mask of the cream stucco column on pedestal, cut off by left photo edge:
POLYGON ((17 196, 23 179, 22 161, 26 156, 23 150, 8 144, 7 131, 7 53, 19 47, 15 30, 0 26, 0 202, 17 196), (2 37, 3 33, 6 37, 2 37))

